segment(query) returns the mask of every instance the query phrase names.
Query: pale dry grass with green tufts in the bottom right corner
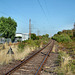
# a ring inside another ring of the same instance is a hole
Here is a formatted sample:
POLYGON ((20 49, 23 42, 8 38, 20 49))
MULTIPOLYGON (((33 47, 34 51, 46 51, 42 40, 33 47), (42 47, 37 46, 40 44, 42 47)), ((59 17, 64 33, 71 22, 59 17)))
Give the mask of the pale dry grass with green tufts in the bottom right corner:
POLYGON ((66 52, 59 51, 58 68, 56 70, 58 75, 74 75, 75 74, 75 60, 73 60, 66 52))

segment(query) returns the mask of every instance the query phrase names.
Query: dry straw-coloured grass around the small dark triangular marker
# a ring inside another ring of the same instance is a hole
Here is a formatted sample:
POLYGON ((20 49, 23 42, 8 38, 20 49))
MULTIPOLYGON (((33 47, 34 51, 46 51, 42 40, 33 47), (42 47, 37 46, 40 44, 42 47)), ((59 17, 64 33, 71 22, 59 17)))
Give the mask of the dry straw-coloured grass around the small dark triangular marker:
POLYGON ((10 46, 0 51, 0 65, 8 64, 12 60, 23 60, 29 53, 34 51, 36 47, 25 46, 23 52, 18 51, 18 46, 11 46, 14 54, 7 54, 10 46))

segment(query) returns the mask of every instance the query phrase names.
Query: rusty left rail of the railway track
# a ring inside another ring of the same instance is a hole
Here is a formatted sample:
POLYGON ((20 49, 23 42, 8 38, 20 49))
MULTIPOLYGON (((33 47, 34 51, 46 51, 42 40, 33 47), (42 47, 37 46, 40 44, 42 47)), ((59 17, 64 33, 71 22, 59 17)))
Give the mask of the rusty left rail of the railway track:
POLYGON ((36 54, 38 54, 40 51, 45 49, 51 42, 52 42, 52 40, 50 40, 50 42, 47 45, 45 45, 43 48, 41 48, 40 50, 38 50, 35 53, 33 53, 30 57, 28 57, 28 58, 24 59, 23 61, 21 61, 21 63, 19 63, 17 66, 15 66, 14 68, 12 68, 11 70, 9 70, 8 72, 6 72, 3 75, 10 75, 10 74, 12 74, 14 71, 19 69, 23 64, 27 63, 31 58, 33 58, 36 54))

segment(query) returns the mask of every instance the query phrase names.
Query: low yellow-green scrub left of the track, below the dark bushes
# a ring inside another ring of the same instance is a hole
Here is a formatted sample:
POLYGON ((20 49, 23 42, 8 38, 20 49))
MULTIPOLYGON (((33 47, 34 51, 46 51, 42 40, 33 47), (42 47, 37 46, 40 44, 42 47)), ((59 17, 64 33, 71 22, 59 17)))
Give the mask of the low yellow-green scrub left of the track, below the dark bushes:
POLYGON ((48 43, 48 40, 49 40, 48 38, 40 39, 40 40, 32 40, 32 39, 25 40, 18 45, 18 51, 22 52, 24 50, 25 46, 38 48, 38 47, 40 47, 41 42, 43 44, 46 44, 46 43, 48 43))

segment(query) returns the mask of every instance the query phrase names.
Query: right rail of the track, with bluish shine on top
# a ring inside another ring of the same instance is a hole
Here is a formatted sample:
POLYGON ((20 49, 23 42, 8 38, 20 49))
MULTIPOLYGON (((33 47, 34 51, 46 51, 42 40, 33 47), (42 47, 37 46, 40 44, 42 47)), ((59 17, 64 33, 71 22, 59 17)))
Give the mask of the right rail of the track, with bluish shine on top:
POLYGON ((48 58, 50 52, 52 51, 53 46, 54 46, 54 41, 53 41, 53 43, 52 43, 52 46, 51 46, 50 50, 49 50, 49 51, 47 52, 47 54, 45 55, 45 57, 44 57, 44 59, 43 59, 41 65, 39 66, 39 68, 38 68, 37 72, 35 73, 35 75, 40 75, 40 71, 41 71, 41 69, 42 69, 44 63, 46 62, 46 60, 47 60, 47 58, 48 58))

